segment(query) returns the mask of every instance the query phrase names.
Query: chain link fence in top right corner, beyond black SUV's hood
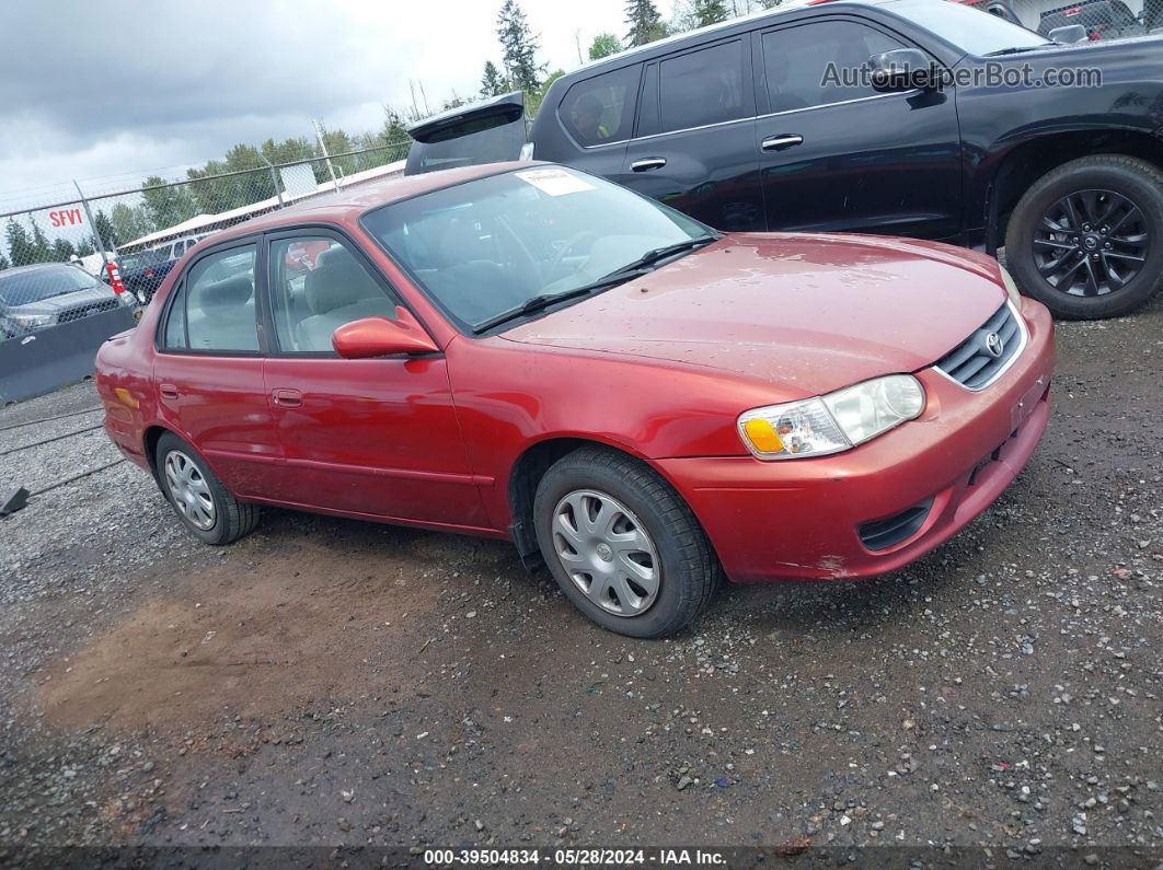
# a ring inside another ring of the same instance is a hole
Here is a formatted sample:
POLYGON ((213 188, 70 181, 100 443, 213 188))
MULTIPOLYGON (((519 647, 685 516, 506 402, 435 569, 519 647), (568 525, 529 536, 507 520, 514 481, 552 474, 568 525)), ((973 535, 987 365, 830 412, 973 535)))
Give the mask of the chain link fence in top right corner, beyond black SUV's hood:
POLYGON ((1085 39, 1118 39, 1163 33, 1163 0, 963 0, 1042 36, 1079 24, 1085 39))

